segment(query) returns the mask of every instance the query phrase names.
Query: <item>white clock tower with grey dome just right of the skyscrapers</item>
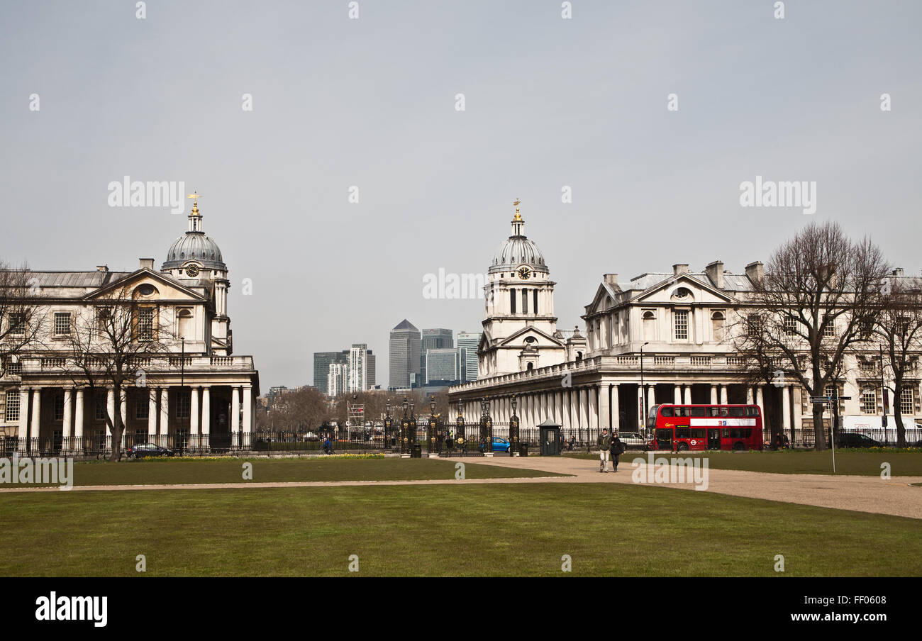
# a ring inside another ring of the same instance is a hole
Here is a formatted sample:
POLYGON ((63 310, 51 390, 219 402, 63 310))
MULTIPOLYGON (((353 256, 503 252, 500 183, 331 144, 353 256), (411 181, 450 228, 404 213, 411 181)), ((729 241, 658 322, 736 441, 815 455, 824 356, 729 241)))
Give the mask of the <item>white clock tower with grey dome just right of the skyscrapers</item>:
POLYGON ((493 254, 487 272, 486 318, 479 347, 480 377, 558 364, 565 358, 554 315, 554 283, 544 255, 525 235, 514 202, 512 234, 493 254))

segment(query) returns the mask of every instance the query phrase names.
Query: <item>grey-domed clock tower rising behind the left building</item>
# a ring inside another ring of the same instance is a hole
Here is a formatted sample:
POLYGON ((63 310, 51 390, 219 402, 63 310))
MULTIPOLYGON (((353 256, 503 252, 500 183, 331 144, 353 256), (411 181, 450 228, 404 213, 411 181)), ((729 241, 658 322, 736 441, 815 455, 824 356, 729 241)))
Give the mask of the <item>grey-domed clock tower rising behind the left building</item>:
POLYGON ((160 271, 169 274, 190 289, 203 289, 211 299, 210 346, 215 356, 230 356, 231 318, 228 316, 228 266, 224 264, 218 243, 202 230, 202 214, 198 210, 197 193, 189 212, 189 230, 177 238, 167 250, 167 259, 160 271))

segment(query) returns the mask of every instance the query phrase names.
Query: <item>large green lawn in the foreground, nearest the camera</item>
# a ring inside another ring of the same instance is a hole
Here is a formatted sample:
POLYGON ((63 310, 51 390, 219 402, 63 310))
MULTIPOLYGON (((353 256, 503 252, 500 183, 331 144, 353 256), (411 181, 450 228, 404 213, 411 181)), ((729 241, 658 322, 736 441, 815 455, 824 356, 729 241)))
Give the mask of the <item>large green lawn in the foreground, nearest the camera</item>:
POLYGON ((0 523, 0 576, 922 574, 915 519, 621 484, 2 494, 0 523))

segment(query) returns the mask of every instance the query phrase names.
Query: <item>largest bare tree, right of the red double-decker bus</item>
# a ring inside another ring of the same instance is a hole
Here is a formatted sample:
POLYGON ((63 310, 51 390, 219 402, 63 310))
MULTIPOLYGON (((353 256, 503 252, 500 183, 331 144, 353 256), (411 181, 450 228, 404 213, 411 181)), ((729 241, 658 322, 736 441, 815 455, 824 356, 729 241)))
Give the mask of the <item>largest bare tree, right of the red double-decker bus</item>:
MULTIPOLYGON (((782 363, 810 396, 822 396, 839 375, 846 350, 861 340, 861 323, 881 305, 889 270, 869 239, 853 242, 834 222, 810 223, 771 255, 740 309, 737 350, 782 363)), ((826 448, 823 406, 815 404, 815 449, 826 448)))

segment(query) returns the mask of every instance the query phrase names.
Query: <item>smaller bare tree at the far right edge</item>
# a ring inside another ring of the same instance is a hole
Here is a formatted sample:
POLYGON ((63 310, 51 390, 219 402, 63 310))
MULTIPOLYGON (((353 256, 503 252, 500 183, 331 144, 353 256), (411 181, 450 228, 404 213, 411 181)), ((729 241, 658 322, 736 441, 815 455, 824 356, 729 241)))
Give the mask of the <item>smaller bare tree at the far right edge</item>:
MULTIPOLYGON (((866 320, 863 329, 881 341, 893 376, 893 419, 896 445, 906 446, 903 408, 900 398, 906 374, 915 371, 922 349, 922 292, 911 289, 903 280, 884 283, 880 309, 866 320)), ((881 362, 881 367, 884 363, 881 362)))

